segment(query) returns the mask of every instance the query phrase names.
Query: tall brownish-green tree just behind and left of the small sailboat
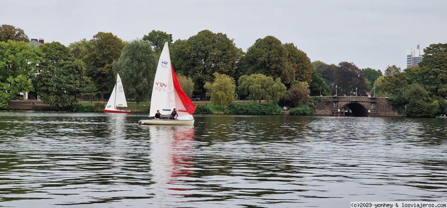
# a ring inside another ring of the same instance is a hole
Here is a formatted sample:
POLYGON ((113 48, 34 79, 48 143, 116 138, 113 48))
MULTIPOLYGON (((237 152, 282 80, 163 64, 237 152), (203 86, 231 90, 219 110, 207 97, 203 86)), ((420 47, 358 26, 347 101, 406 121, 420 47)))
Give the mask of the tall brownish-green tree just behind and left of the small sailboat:
POLYGON ((101 91, 101 100, 104 100, 104 92, 112 89, 116 80, 111 64, 118 60, 126 44, 116 35, 104 32, 97 33, 89 42, 90 47, 84 56, 87 75, 101 91))

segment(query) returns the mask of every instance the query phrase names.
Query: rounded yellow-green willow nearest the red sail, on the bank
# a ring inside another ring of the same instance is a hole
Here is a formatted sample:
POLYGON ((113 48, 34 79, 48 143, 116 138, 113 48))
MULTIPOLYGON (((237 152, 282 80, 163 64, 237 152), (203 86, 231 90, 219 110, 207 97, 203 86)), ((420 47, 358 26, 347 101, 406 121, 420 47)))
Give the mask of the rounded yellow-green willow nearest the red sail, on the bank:
POLYGON ((214 73, 216 79, 214 82, 205 83, 207 96, 215 105, 226 106, 234 102, 236 85, 234 79, 225 74, 214 73))

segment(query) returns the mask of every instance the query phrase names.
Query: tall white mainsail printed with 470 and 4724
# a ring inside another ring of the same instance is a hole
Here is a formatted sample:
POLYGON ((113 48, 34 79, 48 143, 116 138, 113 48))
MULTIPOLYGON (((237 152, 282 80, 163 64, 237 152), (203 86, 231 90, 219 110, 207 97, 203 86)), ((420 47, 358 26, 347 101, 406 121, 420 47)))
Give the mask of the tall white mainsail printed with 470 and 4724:
POLYGON ((171 58, 168 44, 165 43, 158 60, 157 71, 153 81, 149 115, 154 116, 157 110, 163 115, 170 114, 175 108, 174 85, 172 81, 171 58))

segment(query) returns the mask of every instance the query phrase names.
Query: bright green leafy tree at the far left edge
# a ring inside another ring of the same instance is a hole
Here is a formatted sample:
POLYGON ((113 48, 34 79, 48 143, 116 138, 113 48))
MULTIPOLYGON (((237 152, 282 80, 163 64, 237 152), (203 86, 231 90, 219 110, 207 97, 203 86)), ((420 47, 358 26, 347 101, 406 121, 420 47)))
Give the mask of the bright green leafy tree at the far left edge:
POLYGON ((25 42, 0 42, 0 108, 6 107, 17 93, 33 90, 30 80, 41 59, 40 50, 25 42))

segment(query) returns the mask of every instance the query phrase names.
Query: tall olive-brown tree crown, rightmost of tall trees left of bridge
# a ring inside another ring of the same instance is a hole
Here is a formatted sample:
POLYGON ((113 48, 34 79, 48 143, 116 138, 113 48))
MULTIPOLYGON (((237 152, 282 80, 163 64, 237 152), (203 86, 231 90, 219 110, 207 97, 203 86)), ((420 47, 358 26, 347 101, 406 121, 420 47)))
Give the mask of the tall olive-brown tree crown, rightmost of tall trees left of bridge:
POLYGON ((291 67, 290 77, 297 81, 304 81, 310 83, 312 81, 312 65, 310 63, 310 58, 307 54, 299 50, 294 44, 286 43, 284 44, 288 55, 287 64, 291 67))

